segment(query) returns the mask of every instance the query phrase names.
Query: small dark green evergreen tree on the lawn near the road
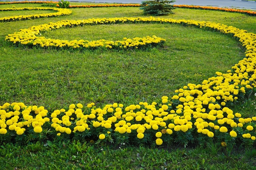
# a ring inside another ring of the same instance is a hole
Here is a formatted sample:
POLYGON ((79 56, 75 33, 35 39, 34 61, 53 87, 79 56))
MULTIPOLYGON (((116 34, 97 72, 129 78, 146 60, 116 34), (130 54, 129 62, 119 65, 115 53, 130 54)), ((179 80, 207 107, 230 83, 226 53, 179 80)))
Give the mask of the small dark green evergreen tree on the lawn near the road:
POLYGON ((153 15, 153 16, 160 16, 160 15, 168 15, 170 13, 174 13, 172 9, 175 9, 173 5, 170 3, 175 2, 175 0, 149 0, 149 1, 142 1, 140 9, 143 10, 145 15, 153 15))

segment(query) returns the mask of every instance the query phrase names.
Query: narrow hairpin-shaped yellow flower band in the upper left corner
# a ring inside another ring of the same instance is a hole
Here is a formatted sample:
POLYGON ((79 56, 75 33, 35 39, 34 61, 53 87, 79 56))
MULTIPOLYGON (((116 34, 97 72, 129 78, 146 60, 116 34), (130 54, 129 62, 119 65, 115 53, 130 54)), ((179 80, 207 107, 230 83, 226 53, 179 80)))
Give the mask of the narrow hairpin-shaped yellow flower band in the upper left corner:
POLYGON ((40 17, 55 17, 60 15, 70 15, 72 11, 70 9, 63 8, 43 8, 43 7, 26 7, 26 8, 6 8, 0 9, 0 11, 22 11, 22 10, 53 10, 58 11, 56 13, 43 13, 43 14, 33 14, 33 15, 16 15, 9 17, 0 17, 0 22, 9 22, 9 21, 18 21, 18 20, 28 20, 28 19, 36 19, 40 17))

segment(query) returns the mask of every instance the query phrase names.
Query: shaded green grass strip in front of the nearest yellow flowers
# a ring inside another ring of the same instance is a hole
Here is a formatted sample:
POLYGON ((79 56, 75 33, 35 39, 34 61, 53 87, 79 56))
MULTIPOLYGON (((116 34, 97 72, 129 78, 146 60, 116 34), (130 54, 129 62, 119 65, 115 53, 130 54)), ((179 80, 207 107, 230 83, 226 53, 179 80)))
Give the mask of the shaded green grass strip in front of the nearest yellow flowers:
POLYGON ((37 142, 28 146, 2 144, 0 146, 0 168, 6 170, 212 170, 218 167, 234 170, 253 169, 255 167, 255 149, 238 149, 229 157, 224 157, 219 148, 217 148, 217 154, 212 154, 211 150, 203 147, 184 149, 175 148, 175 146, 171 148, 148 148, 120 145, 117 148, 109 148, 97 147, 79 141, 61 144, 37 142))

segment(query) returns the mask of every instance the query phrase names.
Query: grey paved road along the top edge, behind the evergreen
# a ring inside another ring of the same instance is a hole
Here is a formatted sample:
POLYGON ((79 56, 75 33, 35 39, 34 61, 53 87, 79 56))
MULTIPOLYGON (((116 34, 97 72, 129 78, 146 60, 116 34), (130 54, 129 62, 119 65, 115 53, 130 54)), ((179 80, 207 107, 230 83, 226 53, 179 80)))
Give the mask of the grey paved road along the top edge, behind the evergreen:
MULTIPOLYGON (((22 0, 0 0, 0 2, 1 1, 22 1, 22 0)), ((42 1, 46 1, 46 0, 42 0, 42 1)), ((54 0, 54 1, 58 1, 58 0, 54 0)), ((68 0, 68 1, 140 4, 141 1, 143 0, 68 0)), ((234 8, 256 10, 256 1, 247 1, 247 0, 176 0, 172 4, 200 5, 200 6, 214 6, 214 7, 234 7, 234 8)))

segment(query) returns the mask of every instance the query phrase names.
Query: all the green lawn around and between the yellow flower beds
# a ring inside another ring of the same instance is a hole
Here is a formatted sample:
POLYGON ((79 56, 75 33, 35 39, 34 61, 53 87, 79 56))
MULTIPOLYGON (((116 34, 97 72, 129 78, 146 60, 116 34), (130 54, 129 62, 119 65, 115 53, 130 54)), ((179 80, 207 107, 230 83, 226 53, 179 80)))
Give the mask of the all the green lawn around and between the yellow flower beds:
MULTIPOLYGON (((0 8, 41 7, 7 4, 0 8)), ((24 102, 48 111, 72 103, 114 102, 124 105, 161 101, 188 83, 199 84, 226 72, 244 58, 244 49, 230 35, 178 24, 117 24, 58 29, 42 33, 52 39, 108 39, 156 35, 164 47, 146 50, 54 50, 12 46, 4 38, 22 28, 60 20, 101 17, 145 17, 137 7, 71 9, 59 17, 0 22, 0 105, 24 102), (111 12, 110 12, 111 11, 111 12)), ((175 9, 164 18, 210 21, 256 33, 256 18, 240 13, 175 9)), ((38 11, 0 12, 0 17, 38 11)), ((43 13, 52 11, 43 11, 43 13)), ((40 11, 42 13, 42 11, 40 11)), ((255 116, 255 96, 236 105, 244 117, 255 116)), ((26 146, 1 144, 1 169, 253 169, 255 145, 222 147, 218 144, 168 146, 115 146, 67 142, 37 142, 26 146), (111 156, 110 156, 111 155, 111 156)))

